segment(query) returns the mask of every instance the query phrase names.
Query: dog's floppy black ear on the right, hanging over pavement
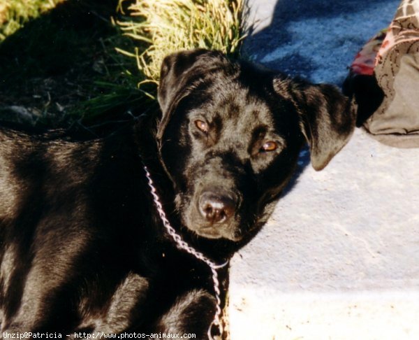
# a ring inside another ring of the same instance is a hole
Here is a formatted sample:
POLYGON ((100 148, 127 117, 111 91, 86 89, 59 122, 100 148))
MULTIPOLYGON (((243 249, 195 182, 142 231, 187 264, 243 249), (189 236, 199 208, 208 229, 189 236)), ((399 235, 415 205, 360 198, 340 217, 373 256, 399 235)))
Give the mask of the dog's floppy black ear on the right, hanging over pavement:
POLYGON ((274 87, 296 106, 302 133, 310 145, 311 165, 322 170, 348 143, 355 129, 356 112, 351 100, 333 85, 275 80, 274 87))

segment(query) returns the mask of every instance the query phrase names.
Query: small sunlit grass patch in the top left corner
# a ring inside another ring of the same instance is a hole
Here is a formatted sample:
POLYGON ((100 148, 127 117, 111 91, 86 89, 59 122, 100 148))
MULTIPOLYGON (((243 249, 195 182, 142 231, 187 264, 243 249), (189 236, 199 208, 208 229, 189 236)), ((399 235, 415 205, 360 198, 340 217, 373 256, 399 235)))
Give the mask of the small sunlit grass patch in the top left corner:
POLYGON ((66 0, 0 0, 0 41, 66 0))

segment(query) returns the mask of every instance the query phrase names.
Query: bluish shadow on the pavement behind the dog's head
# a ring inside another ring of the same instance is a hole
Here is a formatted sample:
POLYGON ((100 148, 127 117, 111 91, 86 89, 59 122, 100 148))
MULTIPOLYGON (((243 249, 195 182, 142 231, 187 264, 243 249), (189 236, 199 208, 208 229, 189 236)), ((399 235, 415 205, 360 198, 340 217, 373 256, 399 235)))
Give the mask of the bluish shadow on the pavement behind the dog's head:
MULTIPOLYGON (((247 3, 258 6, 256 0, 247 3)), ((279 0, 269 26, 251 32, 244 51, 257 62, 291 76, 341 85, 356 52, 388 26, 398 3, 279 0), (378 8, 385 16, 377 17, 378 8)))

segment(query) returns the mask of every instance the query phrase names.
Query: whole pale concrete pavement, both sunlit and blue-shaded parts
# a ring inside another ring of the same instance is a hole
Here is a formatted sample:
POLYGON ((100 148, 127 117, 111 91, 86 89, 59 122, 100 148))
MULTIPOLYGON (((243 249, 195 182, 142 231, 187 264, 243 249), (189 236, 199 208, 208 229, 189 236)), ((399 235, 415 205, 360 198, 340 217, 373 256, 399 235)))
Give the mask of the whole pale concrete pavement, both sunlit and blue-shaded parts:
MULTIPOLYGON (((249 0, 257 62, 340 85, 399 1, 249 0)), ((419 339, 419 149, 360 129, 233 258, 231 339, 419 339)))

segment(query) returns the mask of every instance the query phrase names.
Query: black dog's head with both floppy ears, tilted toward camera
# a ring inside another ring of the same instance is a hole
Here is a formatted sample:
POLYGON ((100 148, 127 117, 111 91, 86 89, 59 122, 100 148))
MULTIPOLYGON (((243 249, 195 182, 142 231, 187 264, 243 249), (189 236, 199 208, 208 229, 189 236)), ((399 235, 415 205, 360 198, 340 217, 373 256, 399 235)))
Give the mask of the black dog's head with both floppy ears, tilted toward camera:
POLYGON ((220 52, 177 52, 161 66, 157 139, 183 224, 240 241, 267 220, 308 141, 321 170, 355 116, 331 85, 311 85, 220 52))

